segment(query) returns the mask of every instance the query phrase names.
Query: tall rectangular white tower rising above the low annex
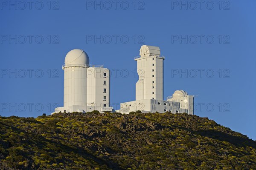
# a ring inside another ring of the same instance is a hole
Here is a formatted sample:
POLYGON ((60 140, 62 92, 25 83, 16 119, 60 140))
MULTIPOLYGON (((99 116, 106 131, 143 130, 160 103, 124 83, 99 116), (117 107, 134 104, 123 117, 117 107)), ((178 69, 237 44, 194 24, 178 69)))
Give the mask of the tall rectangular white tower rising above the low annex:
POLYGON ((140 47, 140 56, 135 57, 139 75, 136 83, 136 100, 163 100, 163 60, 159 47, 140 47))

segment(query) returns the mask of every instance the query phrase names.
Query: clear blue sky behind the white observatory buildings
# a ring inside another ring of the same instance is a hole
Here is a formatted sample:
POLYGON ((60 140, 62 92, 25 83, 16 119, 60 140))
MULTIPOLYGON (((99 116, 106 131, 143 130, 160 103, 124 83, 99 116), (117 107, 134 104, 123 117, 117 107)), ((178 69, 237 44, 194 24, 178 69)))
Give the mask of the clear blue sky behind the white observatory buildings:
POLYGON ((255 1, 0 2, 1 115, 63 106, 61 66, 76 48, 111 70, 111 104, 132 101, 147 44, 166 58, 164 98, 186 90, 195 115, 256 140, 255 1))

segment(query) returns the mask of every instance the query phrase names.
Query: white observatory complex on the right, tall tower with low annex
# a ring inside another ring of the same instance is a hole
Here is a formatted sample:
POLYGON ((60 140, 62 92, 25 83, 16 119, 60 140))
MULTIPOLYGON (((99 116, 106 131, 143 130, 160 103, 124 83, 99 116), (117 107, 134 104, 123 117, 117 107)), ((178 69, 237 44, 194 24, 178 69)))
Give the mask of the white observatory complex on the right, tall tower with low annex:
POLYGON ((139 80, 136 83, 136 100, 120 104, 116 112, 172 112, 194 114, 194 96, 183 90, 176 90, 166 101, 163 100, 163 61, 160 48, 143 45, 137 61, 139 80))

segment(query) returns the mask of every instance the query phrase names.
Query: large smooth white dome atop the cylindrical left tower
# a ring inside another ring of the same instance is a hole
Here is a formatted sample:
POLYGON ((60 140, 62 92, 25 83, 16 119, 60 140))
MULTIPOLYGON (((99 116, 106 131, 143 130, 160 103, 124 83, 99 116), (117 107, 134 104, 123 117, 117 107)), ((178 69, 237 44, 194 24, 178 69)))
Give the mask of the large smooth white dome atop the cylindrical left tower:
POLYGON ((89 64, 89 56, 81 49, 73 49, 67 53, 65 64, 89 64))

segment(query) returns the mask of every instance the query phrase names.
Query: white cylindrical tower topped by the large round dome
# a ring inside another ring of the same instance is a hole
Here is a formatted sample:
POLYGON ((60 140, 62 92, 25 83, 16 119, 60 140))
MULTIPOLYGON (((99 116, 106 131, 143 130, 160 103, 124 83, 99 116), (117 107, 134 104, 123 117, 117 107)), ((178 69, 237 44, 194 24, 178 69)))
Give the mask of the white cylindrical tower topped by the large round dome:
POLYGON ((67 53, 64 69, 64 108, 87 105, 87 68, 89 57, 81 49, 67 53))

